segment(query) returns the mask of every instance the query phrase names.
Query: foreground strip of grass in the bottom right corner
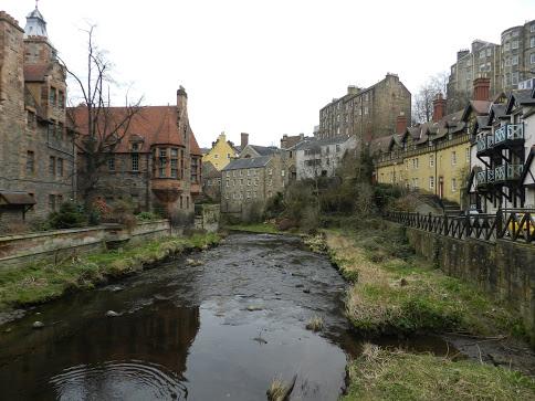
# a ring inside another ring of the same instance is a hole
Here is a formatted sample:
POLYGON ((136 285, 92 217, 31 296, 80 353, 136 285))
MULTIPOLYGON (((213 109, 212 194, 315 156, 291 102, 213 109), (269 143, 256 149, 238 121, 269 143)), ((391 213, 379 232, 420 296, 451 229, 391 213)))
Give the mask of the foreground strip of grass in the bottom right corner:
POLYGON ((353 400, 533 400, 535 381, 505 368, 365 345, 348 367, 353 400))

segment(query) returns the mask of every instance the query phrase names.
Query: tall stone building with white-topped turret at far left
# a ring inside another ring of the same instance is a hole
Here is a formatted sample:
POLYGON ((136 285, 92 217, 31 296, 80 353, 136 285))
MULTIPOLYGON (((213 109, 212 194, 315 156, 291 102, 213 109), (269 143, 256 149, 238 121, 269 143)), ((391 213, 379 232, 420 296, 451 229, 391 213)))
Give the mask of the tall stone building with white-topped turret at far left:
POLYGON ((75 198, 65 70, 35 8, 25 29, 0 11, 0 225, 44 218, 75 198))

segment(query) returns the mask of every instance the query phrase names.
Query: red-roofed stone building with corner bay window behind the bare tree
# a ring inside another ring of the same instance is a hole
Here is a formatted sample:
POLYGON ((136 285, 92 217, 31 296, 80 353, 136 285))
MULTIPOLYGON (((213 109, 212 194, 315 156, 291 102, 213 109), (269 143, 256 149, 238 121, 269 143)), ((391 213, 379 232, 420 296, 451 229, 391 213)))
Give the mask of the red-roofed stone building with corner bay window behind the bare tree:
MULTIPOLYGON (((122 118, 123 107, 107 110, 122 118)), ((71 115, 76 130, 87 135, 87 108, 71 115)), ((201 194, 201 150, 188 119, 188 95, 177 91, 176 106, 141 107, 124 138, 101 167, 95 196, 107 203, 132 201, 138 211, 164 215, 190 215, 201 194)), ((78 180, 83 186, 86 157, 78 155, 78 180)))

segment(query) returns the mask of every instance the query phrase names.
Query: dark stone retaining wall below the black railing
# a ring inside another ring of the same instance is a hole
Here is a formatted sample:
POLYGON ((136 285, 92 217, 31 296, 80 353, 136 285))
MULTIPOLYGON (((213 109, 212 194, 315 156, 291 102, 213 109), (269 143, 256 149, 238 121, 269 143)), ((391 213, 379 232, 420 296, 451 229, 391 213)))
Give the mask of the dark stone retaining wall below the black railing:
POLYGON ((535 249, 533 245, 497 240, 457 240, 407 228, 416 252, 445 274, 465 279, 504 300, 522 315, 535 339, 535 249))

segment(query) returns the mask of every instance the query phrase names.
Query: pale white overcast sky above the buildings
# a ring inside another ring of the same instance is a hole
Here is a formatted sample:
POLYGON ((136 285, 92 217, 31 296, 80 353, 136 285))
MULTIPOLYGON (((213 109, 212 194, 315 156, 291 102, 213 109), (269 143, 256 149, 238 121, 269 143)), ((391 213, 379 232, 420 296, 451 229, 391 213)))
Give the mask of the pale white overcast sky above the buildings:
MULTIPOLYGON (((0 9, 24 27, 34 6, 1 0, 0 9)), ((175 104, 183 85, 201 146, 223 130, 258 145, 312 134, 319 108, 347 85, 392 72, 416 93, 474 39, 500 42, 535 19, 534 0, 41 0, 39 9, 74 70, 83 73, 81 29, 91 21, 115 78, 145 105, 175 104)))

